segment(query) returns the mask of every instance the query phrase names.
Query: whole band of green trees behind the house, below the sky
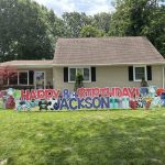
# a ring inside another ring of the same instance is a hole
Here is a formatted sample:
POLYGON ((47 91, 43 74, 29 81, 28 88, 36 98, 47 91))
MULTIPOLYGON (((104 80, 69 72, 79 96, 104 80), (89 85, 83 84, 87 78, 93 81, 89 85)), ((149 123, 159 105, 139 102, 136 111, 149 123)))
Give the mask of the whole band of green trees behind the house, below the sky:
POLYGON ((113 13, 53 10, 32 0, 0 0, 0 62, 51 59, 58 37, 145 35, 165 56, 165 6, 160 0, 116 0, 113 13))

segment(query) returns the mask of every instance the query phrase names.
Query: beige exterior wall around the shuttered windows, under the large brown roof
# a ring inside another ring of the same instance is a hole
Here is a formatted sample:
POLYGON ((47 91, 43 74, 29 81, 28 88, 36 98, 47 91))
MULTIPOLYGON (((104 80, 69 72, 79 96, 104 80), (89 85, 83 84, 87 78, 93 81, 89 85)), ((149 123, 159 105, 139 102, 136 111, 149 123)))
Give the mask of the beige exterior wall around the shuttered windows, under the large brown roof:
MULTIPOLYGON (((63 67, 54 67, 54 88, 74 89, 74 82, 64 82, 63 67)), ((162 66, 152 66, 152 80, 150 86, 163 87, 162 66)), ((85 87, 140 87, 140 81, 129 81, 128 66, 99 66, 96 67, 96 81, 85 82, 85 87)))

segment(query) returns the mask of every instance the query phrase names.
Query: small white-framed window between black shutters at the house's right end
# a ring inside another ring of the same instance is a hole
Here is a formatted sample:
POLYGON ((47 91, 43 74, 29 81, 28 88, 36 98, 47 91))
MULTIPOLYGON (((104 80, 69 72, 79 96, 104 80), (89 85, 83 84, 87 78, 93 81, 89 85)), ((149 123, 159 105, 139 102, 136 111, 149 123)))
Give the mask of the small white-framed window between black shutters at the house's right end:
POLYGON ((146 67, 138 66, 134 67, 134 81, 141 81, 142 78, 146 79, 146 67))

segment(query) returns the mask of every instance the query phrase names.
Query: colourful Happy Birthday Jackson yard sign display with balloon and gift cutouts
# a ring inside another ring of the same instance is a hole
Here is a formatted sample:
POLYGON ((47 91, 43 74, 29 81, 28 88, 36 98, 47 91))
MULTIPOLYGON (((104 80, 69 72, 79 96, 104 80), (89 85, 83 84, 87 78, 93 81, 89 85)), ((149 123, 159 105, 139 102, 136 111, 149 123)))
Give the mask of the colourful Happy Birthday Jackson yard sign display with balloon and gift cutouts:
POLYGON ((79 110, 79 109, 152 109, 165 106, 165 90, 142 88, 78 88, 0 91, 0 109, 79 110))

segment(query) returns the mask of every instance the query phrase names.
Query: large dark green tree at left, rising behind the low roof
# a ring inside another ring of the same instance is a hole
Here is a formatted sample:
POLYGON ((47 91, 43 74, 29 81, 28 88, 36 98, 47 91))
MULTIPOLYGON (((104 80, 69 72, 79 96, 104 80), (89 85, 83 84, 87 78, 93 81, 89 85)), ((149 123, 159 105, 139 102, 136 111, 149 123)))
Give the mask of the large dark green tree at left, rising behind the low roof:
POLYGON ((53 58, 63 33, 54 12, 31 0, 0 0, 0 62, 53 58))

